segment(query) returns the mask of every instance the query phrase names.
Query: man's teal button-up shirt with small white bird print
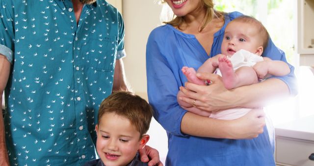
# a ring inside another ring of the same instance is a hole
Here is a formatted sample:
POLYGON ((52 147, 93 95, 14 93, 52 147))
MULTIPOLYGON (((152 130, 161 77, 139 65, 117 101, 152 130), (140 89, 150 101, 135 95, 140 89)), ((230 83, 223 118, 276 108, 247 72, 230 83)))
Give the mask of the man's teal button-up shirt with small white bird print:
POLYGON ((12 63, 5 135, 12 166, 78 166, 95 159, 100 103, 111 93, 124 24, 105 0, 0 0, 0 54, 12 63))

